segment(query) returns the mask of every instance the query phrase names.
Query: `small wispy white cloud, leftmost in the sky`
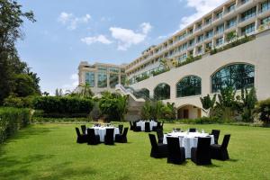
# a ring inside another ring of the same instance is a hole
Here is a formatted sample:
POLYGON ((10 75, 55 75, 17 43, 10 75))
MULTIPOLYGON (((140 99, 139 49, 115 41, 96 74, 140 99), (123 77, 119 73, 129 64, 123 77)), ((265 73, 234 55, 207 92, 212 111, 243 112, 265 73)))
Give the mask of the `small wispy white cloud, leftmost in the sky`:
POLYGON ((74 14, 67 14, 66 12, 62 12, 58 16, 58 22, 64 25, 67 25, 68 30, 76 30, 78 24, 80 23, 88 23, 91 19, 91 15, 85 14, 82 17, 76 17, 74 14))

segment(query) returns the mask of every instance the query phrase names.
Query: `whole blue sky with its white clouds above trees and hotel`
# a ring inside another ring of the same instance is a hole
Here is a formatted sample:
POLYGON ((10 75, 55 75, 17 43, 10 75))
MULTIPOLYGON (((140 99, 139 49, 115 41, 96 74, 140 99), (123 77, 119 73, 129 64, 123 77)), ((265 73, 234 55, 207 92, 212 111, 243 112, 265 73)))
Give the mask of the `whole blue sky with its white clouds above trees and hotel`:
POLYGON ((40 76, 42 91, 74 89, 81 60, 129 63, 224 0, 19 0, 24 23, 17 48, 40 76))

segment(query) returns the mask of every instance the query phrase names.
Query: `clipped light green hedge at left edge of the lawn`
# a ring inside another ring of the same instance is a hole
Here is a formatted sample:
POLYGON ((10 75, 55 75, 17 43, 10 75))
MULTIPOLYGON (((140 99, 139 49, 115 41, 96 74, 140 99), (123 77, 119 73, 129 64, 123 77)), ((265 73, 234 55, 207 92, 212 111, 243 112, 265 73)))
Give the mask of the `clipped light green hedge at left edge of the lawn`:
POLYGON ((0 108, 0 144, 30 122, 30 109, 0 108))

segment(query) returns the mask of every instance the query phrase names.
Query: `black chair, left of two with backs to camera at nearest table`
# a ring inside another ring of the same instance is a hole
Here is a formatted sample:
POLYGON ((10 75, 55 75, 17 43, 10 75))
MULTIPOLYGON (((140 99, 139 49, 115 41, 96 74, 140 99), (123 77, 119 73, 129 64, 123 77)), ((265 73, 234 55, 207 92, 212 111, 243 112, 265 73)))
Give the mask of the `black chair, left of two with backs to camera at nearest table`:
POLYGON ((180 165, 185 161, 184 148, 180 148, 179 138, 166 137, 167 163, 180 165))

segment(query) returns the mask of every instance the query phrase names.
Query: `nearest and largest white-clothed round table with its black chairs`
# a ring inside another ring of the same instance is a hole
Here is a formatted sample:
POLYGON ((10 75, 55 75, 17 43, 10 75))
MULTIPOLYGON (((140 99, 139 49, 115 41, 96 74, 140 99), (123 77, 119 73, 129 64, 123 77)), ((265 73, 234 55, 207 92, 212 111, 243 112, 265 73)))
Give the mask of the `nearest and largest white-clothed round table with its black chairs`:
POLYGON ((150 157, 166 157, 167 163, 182 164, 185 159, 191 158, 196 165, 211 165, 211 159, 229 159, 227 147, 230 135, 226 134, 219 145, 220 130, 212 130, 210 134, 196 129, 174 129, 166 134, 157 130, 157 138, 154 134, 148 136, 150 157))

